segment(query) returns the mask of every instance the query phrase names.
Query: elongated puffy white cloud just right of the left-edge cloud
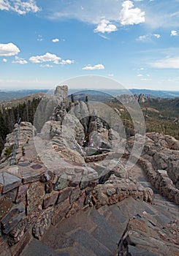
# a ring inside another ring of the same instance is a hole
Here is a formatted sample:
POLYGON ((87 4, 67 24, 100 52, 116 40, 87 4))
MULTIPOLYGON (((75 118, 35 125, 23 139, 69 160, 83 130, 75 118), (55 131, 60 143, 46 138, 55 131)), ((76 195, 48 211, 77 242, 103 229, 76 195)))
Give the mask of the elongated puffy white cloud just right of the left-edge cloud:
POLYGON ((61 57, 56 56, 56 54, 45 53, 45 55, 42 56, 31 56, 29 61, 33 63, 53 62, 54 64, 59 64, 61 57))

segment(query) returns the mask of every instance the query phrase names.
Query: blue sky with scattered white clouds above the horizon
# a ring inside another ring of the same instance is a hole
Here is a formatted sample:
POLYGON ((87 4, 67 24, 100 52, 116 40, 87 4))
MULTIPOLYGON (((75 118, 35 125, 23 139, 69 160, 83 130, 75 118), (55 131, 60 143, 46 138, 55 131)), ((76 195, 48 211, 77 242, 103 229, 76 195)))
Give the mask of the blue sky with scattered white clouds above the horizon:
POLYGON ((179 0, 0 0, 0 17, 0 89, 102 75, 179 90, 179 0))

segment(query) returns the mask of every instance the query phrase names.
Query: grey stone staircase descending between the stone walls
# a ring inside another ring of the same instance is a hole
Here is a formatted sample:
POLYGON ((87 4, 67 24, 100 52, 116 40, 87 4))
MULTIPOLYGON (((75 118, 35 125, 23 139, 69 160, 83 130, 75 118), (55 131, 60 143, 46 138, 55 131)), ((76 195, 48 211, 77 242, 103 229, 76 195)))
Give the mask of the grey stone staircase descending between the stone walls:
MULTIPOLYGON (((142 185, 150 185, 135 165, 133 176, 142 185)), ((178 206, 155 191, 154 204, 134 200, 129 197, 112 206, 86 208, 75 216, 51 225, 42 241, 33 239, 21 256, 110 256, 116 255, 118 241, 126 229, 129 218, 147 212, 164 226, 178 219, 178 206)))

